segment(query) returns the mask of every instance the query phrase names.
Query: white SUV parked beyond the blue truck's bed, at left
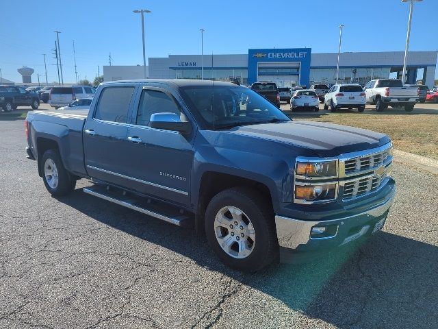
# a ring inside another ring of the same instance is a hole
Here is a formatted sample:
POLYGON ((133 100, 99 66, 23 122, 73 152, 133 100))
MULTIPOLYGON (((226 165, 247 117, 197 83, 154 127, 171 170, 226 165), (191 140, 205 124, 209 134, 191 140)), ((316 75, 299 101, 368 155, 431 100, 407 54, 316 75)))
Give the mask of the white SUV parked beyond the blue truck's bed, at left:
POLYGON ((49 95, 49 103, 53 108, 68 106, 79 98, 92 98, 94 88, 90 86, 54 86, 49 95))

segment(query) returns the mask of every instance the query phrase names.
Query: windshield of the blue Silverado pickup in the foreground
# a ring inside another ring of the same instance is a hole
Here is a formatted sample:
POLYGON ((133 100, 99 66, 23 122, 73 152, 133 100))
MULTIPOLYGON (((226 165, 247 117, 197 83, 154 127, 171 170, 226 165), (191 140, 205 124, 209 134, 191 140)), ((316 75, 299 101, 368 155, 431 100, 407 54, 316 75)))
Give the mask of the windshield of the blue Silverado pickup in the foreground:
POLYGON ((203 121, 207 129, 290 121, 268 99, 240 86, 183 87, 181 96, 193 109, 192 114, 203 121))

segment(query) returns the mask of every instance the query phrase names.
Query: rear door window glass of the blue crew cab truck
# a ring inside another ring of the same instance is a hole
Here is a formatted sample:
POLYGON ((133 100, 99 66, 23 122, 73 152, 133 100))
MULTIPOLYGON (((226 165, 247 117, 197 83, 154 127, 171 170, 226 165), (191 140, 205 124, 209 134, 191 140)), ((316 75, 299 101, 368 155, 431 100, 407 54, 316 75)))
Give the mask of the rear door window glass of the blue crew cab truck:
POLYGON ((126 123, 134 87, 107 87, 102 90, 94 118, 126 123))

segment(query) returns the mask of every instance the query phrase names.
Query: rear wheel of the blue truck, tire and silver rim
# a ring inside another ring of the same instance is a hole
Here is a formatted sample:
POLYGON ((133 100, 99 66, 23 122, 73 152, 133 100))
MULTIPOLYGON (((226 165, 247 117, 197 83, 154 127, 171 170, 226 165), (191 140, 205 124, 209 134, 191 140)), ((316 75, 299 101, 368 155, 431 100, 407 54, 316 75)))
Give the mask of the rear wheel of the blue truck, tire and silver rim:
POLYGON ((42 180, 51 195, 67 195, 75 190, 76 180, 65 169, 57 150, 45 151, 40 166, 42 180))

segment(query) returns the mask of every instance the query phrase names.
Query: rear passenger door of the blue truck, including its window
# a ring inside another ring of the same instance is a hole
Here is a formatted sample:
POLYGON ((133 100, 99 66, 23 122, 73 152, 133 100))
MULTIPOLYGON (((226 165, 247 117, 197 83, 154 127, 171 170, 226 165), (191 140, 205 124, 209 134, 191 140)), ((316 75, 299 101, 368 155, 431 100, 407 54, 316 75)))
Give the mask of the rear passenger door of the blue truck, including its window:
POLYGON ((128 114, 136 87, 127 84, 105 86, 96 106, 90 108, 83 127, 83 151, 88 175, 127 186, 125 178, 128 114))

